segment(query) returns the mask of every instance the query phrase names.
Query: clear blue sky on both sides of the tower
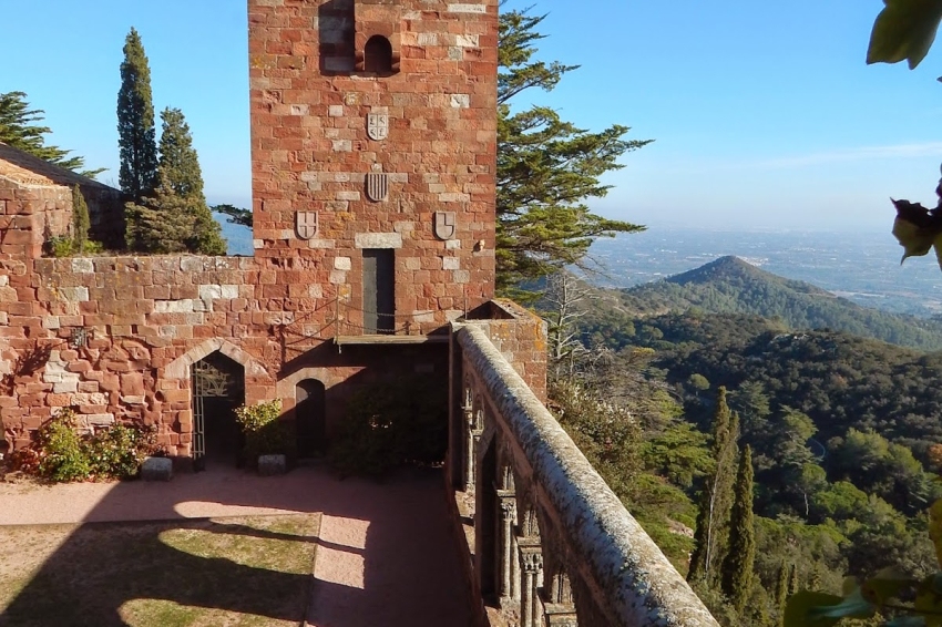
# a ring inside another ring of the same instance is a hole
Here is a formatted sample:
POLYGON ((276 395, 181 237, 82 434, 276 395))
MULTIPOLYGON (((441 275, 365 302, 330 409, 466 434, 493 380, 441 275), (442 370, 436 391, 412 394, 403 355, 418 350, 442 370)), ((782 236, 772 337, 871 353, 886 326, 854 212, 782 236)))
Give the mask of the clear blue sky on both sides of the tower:
MULTIPOLYGON (((509 8, 533 2, 510 1, 509 8)), ((585 129, 632 126, 593 207, 649 226, 885 229, 889 197, 934 204, 942 44, 915 71, 863 62, 880 0, 543 0, 541 56, 582 68, 549 104, 585 129)), ((2 0, 0 92, 45 111, 50 143, 116 184, 115 103, 127 30, 154 105, 181 107, 211 203, 250 197, 243 1, 2 0)))

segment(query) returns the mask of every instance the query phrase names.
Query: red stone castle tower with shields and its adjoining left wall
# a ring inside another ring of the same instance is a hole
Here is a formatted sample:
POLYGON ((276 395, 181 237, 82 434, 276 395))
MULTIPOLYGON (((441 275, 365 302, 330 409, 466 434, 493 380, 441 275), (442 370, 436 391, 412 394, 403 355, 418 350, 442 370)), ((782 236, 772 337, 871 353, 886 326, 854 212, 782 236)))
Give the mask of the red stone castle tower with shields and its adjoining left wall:
MULTIPOLYGON (((324 383, 328 438, 365 386, 448 386, 449 323, 494 290, 496 0, 249 0, 248 13, 254 257, 42 259, 68 233, 71 188, 10 166, 0 421, 16 445, 73 407, 89 429, 156 425, 188 456, 191 368, 216 352, 244 373, 246 403, 279 398, 286 418, 296 386, 324 383), (367 251, 391 258, 396 337, 358 341, 376 332, 367 251)), ((92 192, 93 226, 115 225, 103 237, 120 245, 120 198, 92 192)))

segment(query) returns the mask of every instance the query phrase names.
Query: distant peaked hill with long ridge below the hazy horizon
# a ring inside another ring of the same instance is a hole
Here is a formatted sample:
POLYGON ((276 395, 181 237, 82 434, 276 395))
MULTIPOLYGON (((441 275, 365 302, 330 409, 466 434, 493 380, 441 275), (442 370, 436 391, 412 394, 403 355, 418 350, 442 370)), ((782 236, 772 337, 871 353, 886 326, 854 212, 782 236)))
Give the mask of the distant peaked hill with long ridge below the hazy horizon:
POLYGON ((942 323, 862 307, 810 284, 790 280, 739 259, 720 257, 694 270, 621 290, 628 316, 690 309, 746 314, 791 329, 835 329, 898 346, 942 349, 942 323))

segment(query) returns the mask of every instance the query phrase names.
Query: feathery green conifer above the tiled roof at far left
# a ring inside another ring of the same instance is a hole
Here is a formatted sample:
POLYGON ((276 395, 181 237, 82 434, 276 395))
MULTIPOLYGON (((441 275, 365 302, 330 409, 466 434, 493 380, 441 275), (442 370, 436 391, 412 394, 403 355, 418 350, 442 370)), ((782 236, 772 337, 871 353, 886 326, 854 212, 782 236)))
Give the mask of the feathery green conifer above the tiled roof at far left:
POLYGON ((104 168, 86 171, 83 157, 70 157, 71 151, 47 145, 43 135, 52 130, 37 125, 42 122, 44 111, 30 109, 25 97, 23 92, 0 93, 0 142, 82 176, 93 177, 104 172, 104 168))

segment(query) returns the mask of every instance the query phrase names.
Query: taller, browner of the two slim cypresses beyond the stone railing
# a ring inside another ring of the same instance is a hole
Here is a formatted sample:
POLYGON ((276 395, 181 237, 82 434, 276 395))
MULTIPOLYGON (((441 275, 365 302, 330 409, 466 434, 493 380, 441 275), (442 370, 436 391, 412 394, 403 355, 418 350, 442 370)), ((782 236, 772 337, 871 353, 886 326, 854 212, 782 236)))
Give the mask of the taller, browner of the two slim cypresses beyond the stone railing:
POLYGON ((715 580, 716 566, 721 561, 725 545, 729 507, 733 503, 733 483, 736 477, 736 439, 739 433, 739 420, 726 404, 726 388, 717 391, 716 409, 713 414, 713 459, 714 470, 707 475, 700 492, 697 531, 694 535, 694 553, 690 556, 690 569, 687 580, 698 579, 711 584, 715 580))

